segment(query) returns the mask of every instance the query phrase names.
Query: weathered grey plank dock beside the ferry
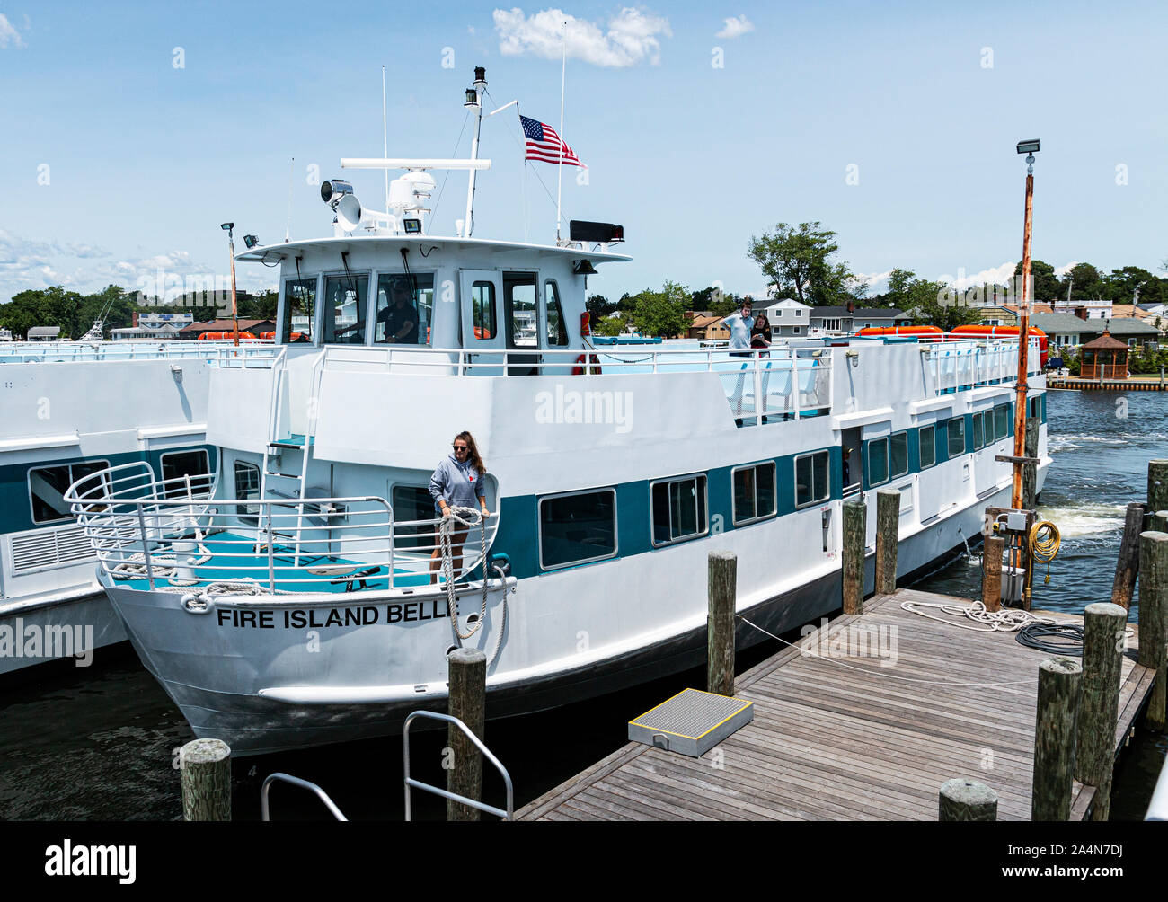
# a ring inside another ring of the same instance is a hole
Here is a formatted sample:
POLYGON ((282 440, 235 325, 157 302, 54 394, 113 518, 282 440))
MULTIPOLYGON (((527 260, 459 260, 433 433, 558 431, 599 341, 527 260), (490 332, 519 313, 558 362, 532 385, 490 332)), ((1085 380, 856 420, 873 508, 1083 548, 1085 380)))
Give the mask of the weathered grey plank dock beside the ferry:
MULTIPOLYGON (((1028 820, 1038 664, 1051 655, 1015 633, 926 619, 903 610, 905 601, 969 604, 911 589, 876 596, 862 616, 827 626, 828 647, 851 638, 849 625, 884 627, 895 634, 895 666, 785 648, 738 676, 736 695, 755 702, 755 720, 702 758, 630 743, 516 819, 937 820, 940 785, 972 777, 997 792, 999 820, 1028 820)), ((1117 754, 1155 675, 1134 658, 1133 643, 1117 754)), ((1075 784, 1072 820, 1085 818, 1093 797, 1075 784)))

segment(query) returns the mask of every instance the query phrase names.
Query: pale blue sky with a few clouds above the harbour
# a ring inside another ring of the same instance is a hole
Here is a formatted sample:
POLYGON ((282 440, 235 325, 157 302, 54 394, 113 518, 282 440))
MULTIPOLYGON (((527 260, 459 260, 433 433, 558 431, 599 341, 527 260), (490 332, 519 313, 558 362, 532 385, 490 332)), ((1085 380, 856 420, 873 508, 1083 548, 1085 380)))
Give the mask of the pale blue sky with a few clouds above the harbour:
MULTIPOLYGON (((633 258, 590 293, 762 296, 751 236, 811 221, 874 291, 896 266, 1001 278, 1035 137, 1034 256, 1160 272, 1166 25, 1163 2, 0 0, 0 301, 225 276, 224 221, 329 235, 322 179, 378 207, 381 173, 340 158, 382 155, 382 65, 390 155, 470 153, 475 65, 487 111, 519 99, 558 129, 563 35, 563 136, 588 164, 564 169, 564 230, 621 223, 633 258)), ((551 243, 556 167, 524 165, 519 136, 515 107, 484 119, 475 236, 551 243)), ((437 181, 430 231, 453 234, 466 173, 437 181)))

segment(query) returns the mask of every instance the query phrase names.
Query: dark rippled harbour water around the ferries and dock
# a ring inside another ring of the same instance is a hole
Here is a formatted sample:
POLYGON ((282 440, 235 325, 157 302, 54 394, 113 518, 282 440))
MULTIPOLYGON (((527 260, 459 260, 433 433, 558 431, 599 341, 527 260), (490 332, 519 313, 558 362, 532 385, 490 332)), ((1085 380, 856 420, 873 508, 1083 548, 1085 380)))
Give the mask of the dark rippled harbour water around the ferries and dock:
MULTIPOLYGON (((1050 447, 1040 513, 1063 542, 1050 584, 1035 580, 1035 606, 1082 612, 1108 601, 1129 501, 1147 492, 1147 462, 1168 451, 1168 395, 1134 393, 1126 408, 1103 393, 1051 393, 1050 447), (1118 416, 1118 414, 1126 414, 1118 416)), ((918 584, 976 597, 981 571, 958 561, 918 584)), ((1132 619, 1135 619, 1134 608, 1132 619)), ((739 672, 778 650, 769 641, 739 655, 739 672)), ((168 820, 181 817, 175 750, 192 738, 178 709, 127 646, 95 655, 89 668, 34 672, 30 682, 0 691, 0 818, 44 820, 168 820)), ((679 674, 552 712, 492 721, 492 751, 515 780, 515 806, 537 798, 625 743, 630 719, 686 686, 701 671, 679 674)), ((413 737, 416 776, 445 785, 444 733, 413 737)), ((321 784, 352 819, 403 817, 401 737, 243 758, 235 769, 235 817, 259 817, 259 785, 273 771, 321 784)), ((1113 819, 1141 819, 1168 751, 1168 738, 1138 733, 1115 772, 1113 819)), ((502 803, 502 784, 485 771, 485 800, 502 803)), ((415 792, 415 816, 443 818, 445 803, 415 792)), ((300 790, 272 790, 277 819, 327 813, 300 790)))

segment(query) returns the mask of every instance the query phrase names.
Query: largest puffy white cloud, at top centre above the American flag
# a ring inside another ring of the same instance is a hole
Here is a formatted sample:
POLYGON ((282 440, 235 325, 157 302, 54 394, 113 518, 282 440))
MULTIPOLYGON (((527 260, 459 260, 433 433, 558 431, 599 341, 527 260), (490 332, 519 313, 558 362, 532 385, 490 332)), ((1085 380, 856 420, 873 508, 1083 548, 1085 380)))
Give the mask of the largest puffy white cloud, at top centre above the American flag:
POLYGON ((568 56, 592 65, 623 69, 646 60, 656 65, 661 62, 658 36, 673 36, 667 19, 633 7, 610 19, 607 32, 561 9, 543 9, 528 18, 515 7, 495 9, 493 15, 503 56, 531 54, 558 60, 566 41, 568 56))

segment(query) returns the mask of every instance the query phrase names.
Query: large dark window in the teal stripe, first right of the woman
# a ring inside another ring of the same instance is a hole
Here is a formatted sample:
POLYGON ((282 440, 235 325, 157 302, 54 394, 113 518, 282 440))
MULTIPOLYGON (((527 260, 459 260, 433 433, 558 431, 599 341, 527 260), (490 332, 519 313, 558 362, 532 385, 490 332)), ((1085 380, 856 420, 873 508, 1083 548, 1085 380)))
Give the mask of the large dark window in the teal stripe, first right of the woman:
POLYGON ((616 554, 614 488, 540 499, 540 566, 544 570, 616 554))

